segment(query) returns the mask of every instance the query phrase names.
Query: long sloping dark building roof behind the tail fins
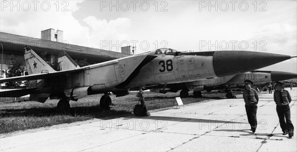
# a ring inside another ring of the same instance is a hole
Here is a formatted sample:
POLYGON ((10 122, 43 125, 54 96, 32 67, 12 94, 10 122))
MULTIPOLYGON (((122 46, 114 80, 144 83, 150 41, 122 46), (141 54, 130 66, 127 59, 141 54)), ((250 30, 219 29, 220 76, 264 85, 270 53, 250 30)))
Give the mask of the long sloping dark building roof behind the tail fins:
POLYGON ((117 58, 129 56, 128 54, 102 50, 93 47, 66 44, 40 38, 31 38, 9 33, 0 32, 0 43, 3 45, 4 52, 23 54, 26 45, 31 47, 37 54, 48 52, 48 54, 58 56, 61 50, 66 51, 73 59, 88 62, 100 63, 117 58))

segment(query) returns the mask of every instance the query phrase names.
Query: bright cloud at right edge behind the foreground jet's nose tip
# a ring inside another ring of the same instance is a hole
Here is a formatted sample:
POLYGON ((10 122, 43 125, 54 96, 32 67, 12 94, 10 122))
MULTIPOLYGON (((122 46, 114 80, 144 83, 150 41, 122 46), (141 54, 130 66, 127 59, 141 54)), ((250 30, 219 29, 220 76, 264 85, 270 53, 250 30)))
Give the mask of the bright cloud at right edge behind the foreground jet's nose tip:
MULTIPOLYGON (((252 34, 251 40, 265 41, 269 53, 295 55, 297 52, 297 27, 288 23, 265 24, 252 34)), ((297 73, 297 59, 290 59, 260 70, 287 71, 297 73)))

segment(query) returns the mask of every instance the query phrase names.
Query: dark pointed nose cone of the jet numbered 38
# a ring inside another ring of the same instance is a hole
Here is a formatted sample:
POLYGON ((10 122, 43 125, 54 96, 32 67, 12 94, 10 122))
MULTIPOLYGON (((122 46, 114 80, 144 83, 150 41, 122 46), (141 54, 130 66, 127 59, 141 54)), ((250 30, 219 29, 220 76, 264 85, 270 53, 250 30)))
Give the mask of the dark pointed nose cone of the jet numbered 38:
POLYGON ((228 76, 267 67, 291 59, 289 55, 253 51, 216 51, 213 69, 216 76, 228 76))

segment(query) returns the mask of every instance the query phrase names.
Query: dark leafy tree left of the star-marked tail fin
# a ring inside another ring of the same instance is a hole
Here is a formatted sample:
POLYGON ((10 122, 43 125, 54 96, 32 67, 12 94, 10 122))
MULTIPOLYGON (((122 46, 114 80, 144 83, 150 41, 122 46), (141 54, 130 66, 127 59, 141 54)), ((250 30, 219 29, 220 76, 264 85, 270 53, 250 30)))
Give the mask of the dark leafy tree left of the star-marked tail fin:
MULTIPOLYGON (((23 60, 12 60, 11 64, 8 66, 8 72, 5 73, 6 77, 13 77, 13 76, 23 76, 25 71, 24 61, 23 60)), ((23 82, 8 82, 6 86, 9 87, 18 87, 23 82)))

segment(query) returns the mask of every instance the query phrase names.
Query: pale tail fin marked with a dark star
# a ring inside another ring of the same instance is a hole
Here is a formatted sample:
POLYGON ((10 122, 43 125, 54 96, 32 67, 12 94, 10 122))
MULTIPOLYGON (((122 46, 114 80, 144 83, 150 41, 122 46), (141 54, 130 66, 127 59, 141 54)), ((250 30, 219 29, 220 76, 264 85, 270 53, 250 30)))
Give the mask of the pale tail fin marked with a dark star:
POLYGON ((29 75, 55 72, 49 64, 38 56, 30 47, 24 48, 24 57, 29 75))

